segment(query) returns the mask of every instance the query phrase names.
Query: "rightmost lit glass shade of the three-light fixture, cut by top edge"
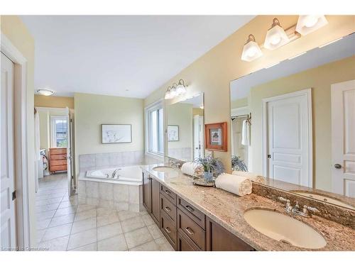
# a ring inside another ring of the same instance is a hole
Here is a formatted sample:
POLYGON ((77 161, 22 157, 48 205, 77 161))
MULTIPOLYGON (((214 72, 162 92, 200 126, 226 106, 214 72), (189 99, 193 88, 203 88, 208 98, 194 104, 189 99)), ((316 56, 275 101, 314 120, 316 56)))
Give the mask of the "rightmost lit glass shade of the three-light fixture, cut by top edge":
POLYGON ((324 15, 304 15, 299 16, 296 26, 297 33, 307 35, 317 29, 327 25, 328 21, 324 15))

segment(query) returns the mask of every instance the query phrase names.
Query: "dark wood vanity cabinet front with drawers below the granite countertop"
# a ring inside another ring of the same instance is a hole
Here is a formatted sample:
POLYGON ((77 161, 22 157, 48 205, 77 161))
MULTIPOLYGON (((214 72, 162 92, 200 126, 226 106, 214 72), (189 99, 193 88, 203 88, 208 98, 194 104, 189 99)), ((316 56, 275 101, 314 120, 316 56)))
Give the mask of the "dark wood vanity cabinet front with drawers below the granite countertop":
POLYGON ((143 206, 175 250, 254 250, 146 172, 143 173, 143 206))

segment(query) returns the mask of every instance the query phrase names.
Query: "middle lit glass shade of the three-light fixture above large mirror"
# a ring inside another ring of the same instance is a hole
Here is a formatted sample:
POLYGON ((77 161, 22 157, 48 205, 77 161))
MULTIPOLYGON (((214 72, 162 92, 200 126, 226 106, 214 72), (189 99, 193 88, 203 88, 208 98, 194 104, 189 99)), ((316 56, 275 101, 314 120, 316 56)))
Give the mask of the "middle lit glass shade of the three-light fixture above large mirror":
POLYGON ((268 50, 275 50, 286 43, 290 43, 288 35, 285 33, 283 27, 280 26, 278 18, 273 19, 273 25, 266 33, 264 47, 268 50))

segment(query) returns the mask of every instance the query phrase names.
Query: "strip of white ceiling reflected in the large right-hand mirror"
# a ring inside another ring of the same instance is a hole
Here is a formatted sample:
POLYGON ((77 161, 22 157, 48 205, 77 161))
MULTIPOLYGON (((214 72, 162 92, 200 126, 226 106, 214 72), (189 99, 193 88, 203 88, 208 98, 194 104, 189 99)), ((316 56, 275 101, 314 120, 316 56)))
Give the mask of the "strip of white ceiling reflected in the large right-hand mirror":
POLYGON ((242 99, 249 95, 250 89, 271 82, 273 79, 288 77, 329 62, 355 55, 355 34, 351 34, 322 48, 315 48, 304 55, 284 60, 274 67, 265 68, 231 82, 231 100, 242 99))

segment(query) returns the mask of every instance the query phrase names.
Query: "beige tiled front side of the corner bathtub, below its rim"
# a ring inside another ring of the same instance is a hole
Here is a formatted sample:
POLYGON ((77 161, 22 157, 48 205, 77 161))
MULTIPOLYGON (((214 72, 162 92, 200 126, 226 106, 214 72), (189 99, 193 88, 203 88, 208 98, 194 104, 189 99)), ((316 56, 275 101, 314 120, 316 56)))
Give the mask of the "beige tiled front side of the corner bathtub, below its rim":
POLYGON ((77 196, 80 204, 102 206, 117 211, 142 211, 142 185, 119 184, 114 181, 82 180, 85 172, 80 173, 77 182, 77 196))

